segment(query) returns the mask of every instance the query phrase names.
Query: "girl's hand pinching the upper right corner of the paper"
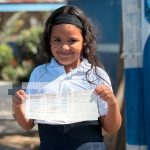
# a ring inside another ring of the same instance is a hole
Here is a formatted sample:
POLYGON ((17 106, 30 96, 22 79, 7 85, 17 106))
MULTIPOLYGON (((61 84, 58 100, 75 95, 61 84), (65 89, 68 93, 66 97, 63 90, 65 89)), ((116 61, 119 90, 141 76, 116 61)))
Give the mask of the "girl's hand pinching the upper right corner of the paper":
POLYGON ((109 106, 115 104, 116 102, 116 98, 113 94, 113 91, 110 89, 110 87, 104 84, 98 85, 95 89, 95 93, 99 95, 101 99, 106 101, 109 106))

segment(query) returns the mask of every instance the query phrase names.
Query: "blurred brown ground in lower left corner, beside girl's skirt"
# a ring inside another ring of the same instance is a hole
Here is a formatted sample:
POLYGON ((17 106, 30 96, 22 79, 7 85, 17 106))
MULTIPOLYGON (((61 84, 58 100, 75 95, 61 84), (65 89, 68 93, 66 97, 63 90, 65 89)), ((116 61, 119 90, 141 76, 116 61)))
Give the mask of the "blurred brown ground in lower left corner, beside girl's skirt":
POLYGON ((14 119, 0 119, 0 150, 36 150, 38 145, 36 127, 25 131, 14 119))

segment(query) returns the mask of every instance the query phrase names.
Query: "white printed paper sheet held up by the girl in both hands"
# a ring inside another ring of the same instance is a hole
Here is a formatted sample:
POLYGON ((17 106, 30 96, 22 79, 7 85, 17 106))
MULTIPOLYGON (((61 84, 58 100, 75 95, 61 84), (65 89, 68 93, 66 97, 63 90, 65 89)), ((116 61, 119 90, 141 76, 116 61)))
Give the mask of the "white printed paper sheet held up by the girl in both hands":
POLYGON ((93 90, 28 95, 25 115, 30 119, 62 124, 97 120, 99 116, 93 90))

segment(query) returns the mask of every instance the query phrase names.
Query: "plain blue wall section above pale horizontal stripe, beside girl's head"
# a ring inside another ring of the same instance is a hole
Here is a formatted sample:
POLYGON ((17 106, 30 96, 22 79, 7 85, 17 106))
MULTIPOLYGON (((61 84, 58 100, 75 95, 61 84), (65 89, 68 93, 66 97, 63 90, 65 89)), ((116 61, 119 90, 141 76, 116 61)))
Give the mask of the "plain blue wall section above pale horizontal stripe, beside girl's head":
POLYGON ((80 7, 99 28, 99 41, 118 43, 121 30, 121 0, 68 0, 80 7))

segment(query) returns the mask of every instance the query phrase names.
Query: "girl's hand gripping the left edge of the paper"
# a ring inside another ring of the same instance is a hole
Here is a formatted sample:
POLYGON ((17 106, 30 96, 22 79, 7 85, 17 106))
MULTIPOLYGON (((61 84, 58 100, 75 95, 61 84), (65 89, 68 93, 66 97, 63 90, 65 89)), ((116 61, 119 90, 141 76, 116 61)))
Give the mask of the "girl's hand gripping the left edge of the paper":
POLYGON ((19 90, 16 92, 16 94, 13 96, 12 105, 14 108, 19 109, 22 108, 22 104, 25 102, 27 98, 26 93, 24 90, 19 90))

